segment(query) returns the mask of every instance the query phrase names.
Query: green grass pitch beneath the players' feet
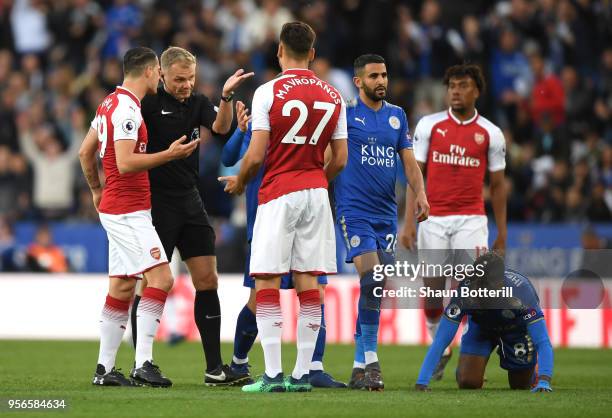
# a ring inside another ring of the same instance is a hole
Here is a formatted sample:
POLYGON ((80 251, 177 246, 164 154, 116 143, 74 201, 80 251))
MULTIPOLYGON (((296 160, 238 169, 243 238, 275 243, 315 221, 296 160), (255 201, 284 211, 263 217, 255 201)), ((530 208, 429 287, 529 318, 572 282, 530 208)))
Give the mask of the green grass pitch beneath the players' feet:
MULTIPOLYGON (((382 393, 315 389, 312 393, 243 394, 239 388, 208 388, 203 381, 200 345, 169 347, 157 343, 155 360, 173 379, 170 389, 103 388, 91 385, 96 342, 0 341, 0 406, 3 416, 74 417, 610 417, 612 416, 612 350, 555 351, 554 393, 533 394, 507 389, 505 372, 493 355, 485 389, 459 391, 453 371, 455 355, 441 382, 430 393, 413 392, 423 347, 384 346, 379 357, 386 389, 382 393), (65 399, 65 411, 20 411, 6 408, 7 399, 65 399)), ((231 346, 224 344, 224 358, 231 346)), ((129 370, 133 351, 124 344, 117 366, 129 370)), ((292 345, 283 347, 290 372, 292 345)), ((252 371, 262 373, 263 356, 256 343, 252 371)), ((325 367, 347 380, 352 347, 330 345, 325 367)))

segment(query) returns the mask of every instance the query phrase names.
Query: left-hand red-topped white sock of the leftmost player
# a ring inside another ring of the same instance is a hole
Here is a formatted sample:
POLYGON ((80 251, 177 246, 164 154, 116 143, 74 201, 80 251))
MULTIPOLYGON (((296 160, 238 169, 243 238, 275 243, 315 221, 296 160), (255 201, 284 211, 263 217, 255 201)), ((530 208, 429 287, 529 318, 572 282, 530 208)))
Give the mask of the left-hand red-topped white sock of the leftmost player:
POLYGON ((121 339, 128 321, 129 301, 106 296, 106 303, 100 318, 100 353, 98 364, 104 366, 107 372, 115 367, 115 358, 121 345, 121 339))

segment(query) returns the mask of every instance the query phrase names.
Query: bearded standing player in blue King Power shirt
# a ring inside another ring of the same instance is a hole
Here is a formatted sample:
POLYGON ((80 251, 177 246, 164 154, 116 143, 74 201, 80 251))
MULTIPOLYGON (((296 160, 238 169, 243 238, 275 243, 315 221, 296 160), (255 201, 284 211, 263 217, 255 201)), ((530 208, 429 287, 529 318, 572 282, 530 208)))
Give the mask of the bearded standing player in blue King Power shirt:
POLYGON ((395 182, 398 156, 416 194, 417 219, 427 218, 429 204, 423 175, 412 152, 403 109, 384 99, 387 69, 379 55, 367 54, 354 63, 356 103, 347 107, 348 164, 334 183, 336 216, 344 235, 346 261, 360 277, 359 314, 355 332, 355 360, 349 387, 378 391, 384 388, 377 356, 381 299, 374 267, 392 263, 397 239, 395 182))

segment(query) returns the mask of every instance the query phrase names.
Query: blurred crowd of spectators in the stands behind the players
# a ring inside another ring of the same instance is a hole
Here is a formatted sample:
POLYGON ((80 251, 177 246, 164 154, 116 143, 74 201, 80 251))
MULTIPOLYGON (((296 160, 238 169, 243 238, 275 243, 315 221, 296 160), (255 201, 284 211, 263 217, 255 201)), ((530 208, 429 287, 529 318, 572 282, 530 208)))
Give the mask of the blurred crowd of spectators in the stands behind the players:
MULTIPOLYGON (((317 32, 312 68, 347 100, 354 58, 383 55, 411 127, 445 108, 448 66, 481 65, 479 111, 507 141, 509 220, 612 221, 609 1, 0 0, 0 226, 97 221, 77 149, 128 48, 189 49, 213 101, 235 69, 255 71, 237 92, 248 106, 294 19, 317 32)), ((203 138, 200 188, 222 243, 244 205, 217 182, 223 139, 203 138)))

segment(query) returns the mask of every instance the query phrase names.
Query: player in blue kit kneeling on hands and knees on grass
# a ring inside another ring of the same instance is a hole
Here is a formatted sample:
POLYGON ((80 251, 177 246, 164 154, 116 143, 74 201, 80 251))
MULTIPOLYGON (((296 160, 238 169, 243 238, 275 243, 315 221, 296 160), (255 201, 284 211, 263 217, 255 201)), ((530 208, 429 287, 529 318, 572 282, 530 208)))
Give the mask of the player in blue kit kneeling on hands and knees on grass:
POLYGON ((522 274, 506 269, 503 259, 492 252, 478 257, 474 267, 472 277, 461 282, 458 295, 444 310, 415 389, 429 390, 442 353, 467 316, 457 367, 460 389, 482 388, 489 356, 497 346, 511 389, 534 386, 532 392, 551 392, 553 350, 533 285, 522 274), (472 294, 462 297, 464 291, 472 294))

